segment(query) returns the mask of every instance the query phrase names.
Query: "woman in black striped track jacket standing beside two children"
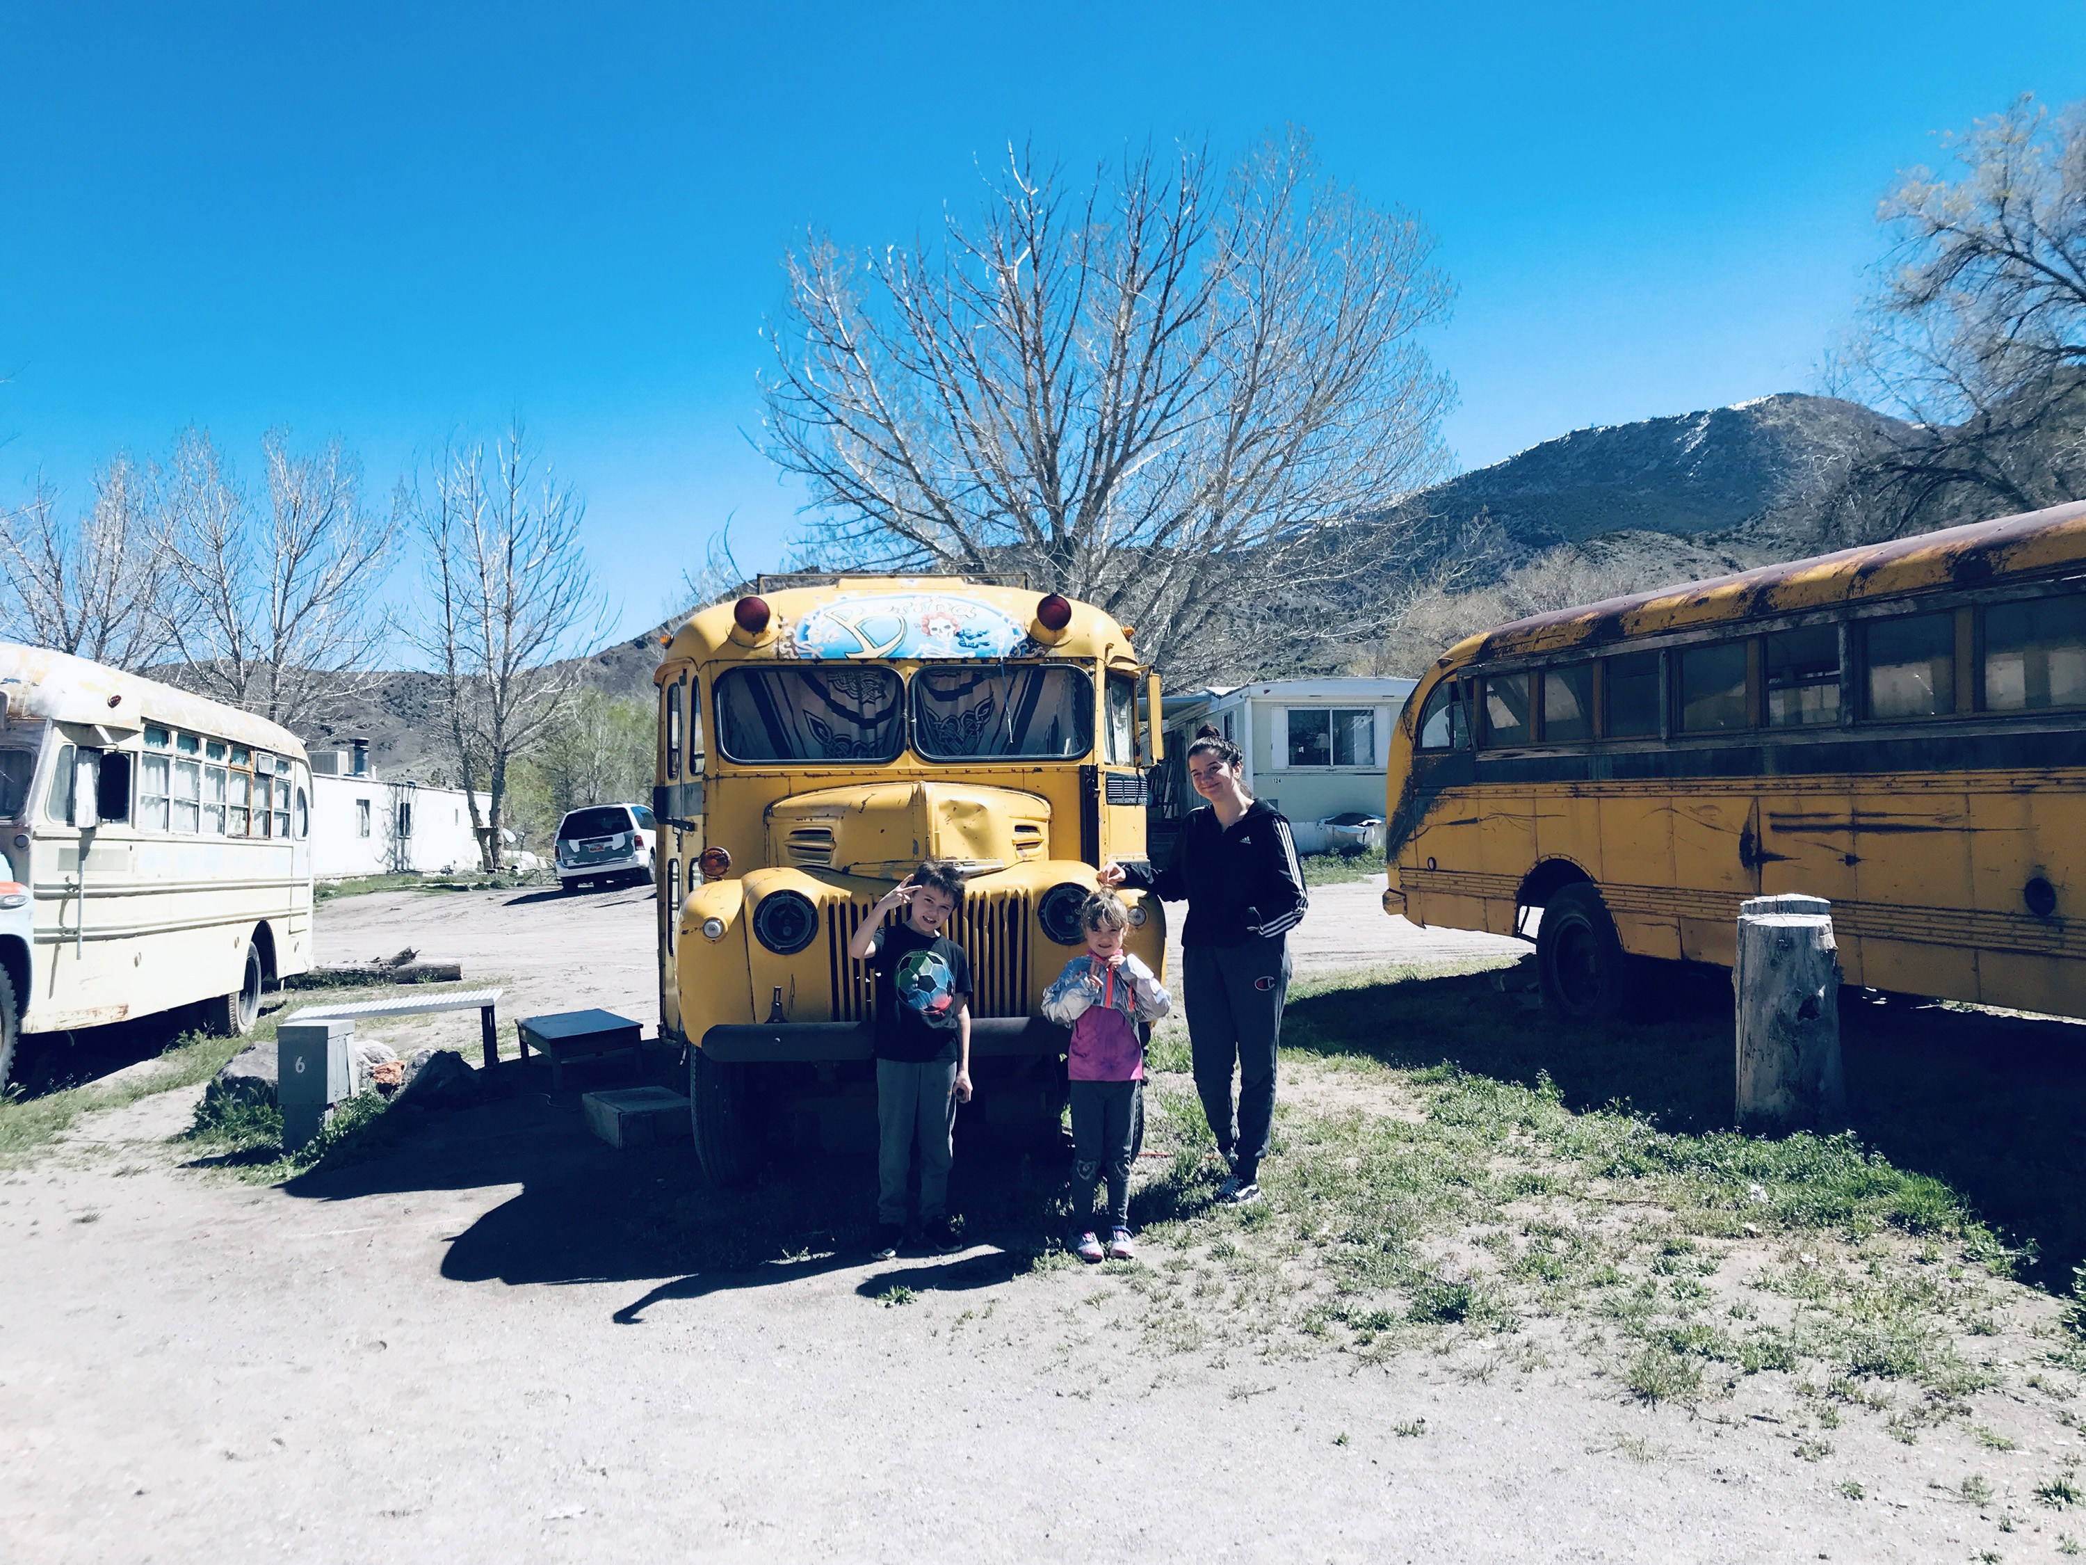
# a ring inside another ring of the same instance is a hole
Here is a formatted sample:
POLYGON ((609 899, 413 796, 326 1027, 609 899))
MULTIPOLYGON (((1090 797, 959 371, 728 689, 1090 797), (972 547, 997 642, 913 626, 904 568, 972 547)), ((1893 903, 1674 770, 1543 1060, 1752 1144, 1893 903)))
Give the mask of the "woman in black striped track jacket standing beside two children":
POLYGON ((1187 899, 1181 991, 1195 1091, 1231 1162, 1218 1200, 1239 1204, 1260 1198, 1260 1160, 1275 1123, 1275 1050, 1289 995, 1287 935, 1308 904, 1289 822, 1245 791, 1241 760, 1237 745, 1204 728, 1187 747, 1187 772, 1210 803, 1187 818, 1172 868, 1154 874, 1143 864, 1106 864, 1099 874, 1108 887, 1187 899))

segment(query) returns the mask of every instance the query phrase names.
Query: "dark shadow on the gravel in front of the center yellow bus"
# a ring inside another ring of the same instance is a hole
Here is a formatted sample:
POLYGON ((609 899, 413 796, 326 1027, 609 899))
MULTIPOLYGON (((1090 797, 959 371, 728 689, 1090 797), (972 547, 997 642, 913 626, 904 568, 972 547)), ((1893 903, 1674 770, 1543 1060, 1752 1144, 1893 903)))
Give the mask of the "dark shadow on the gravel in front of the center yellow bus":
MULTIPOLYGON (((569 1068, 572 1085, 553 1093, 540 1060, 509 1060, 499 1073, 503 1095, 492 1102, 419 1114, 394 1108, 382 1121, 398 1116, 398 1125, 342 1148, 284 1189, 325 1202, 390 1196, 405 1219, 413 1194, 519 1185, 459 1233, 442 1235, 442 1277, 513 1287, 649 1283, 615 1310, 624 1325, 663 1300, 872 1265, 872 1158, 776 1156, 747 1189, 718 1191, 703 1185, 686 1139, 617 1152, 588 1133, 580 1093, 628 1079, 590 1081, 569 1068)), ((912 1258, 903 1285, 968 1290, 1026 1271, 1043 1248, 1041 1214, 1060 1181, 1049 1154, 960 1154, 951 1198, 966 1237, 978 1244, 955 1256, 912 1258)), ((897 1269, 889 1269, 855 1292, 882 1296, 895 1285, 897 1269)))

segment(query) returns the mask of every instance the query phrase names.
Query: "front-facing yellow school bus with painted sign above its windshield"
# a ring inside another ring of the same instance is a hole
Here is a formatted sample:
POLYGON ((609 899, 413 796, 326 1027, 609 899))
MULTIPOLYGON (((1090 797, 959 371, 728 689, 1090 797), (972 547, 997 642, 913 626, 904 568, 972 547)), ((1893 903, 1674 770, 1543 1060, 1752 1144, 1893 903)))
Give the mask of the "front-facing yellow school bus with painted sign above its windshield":
MULTIPOLYGON (((711 1181, 772 1146, 868 1146, 868 964, 847 941, 922 858, 960 860, 968 1116, 1056 1127, 1043 989, 1085 943, 1110 858, 1145 853, 1158 680, 1131 630, 1053 593, 955 576, 763 578, 668 643, 659 682, 659 1016, 690 1043, 711 1181)), ((1160 970, 1164 912, 1131 893, 1160 970)))

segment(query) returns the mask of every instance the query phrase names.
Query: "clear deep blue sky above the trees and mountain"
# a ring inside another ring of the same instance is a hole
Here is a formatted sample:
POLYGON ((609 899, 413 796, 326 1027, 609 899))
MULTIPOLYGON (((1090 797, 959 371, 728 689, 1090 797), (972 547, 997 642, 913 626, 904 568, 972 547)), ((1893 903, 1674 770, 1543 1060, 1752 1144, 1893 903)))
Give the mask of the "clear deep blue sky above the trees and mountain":
POLYGON ((1033 138, 1229 156, 1295 121, 1418 211, 1464 465, 1813 388, 1875 196, 2017 92, 2086 96, 2082 4, 0 4, 0 503, 196 422, 371 488, 519 411, 634 632, 734 520, 759 326, 807 223, 905 242, 1033 138))

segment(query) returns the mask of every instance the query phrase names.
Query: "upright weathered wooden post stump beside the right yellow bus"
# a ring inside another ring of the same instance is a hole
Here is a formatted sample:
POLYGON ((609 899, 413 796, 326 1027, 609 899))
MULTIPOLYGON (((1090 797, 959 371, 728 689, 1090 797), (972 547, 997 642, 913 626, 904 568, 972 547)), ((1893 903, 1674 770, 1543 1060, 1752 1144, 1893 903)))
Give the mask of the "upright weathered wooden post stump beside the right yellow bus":
POLYGON ((1738 1125, 1788 1135, 1846 1123, 1840 949, 1823 897, 1752 897, 1738 910, 1738 1125))

